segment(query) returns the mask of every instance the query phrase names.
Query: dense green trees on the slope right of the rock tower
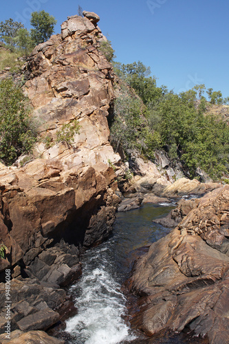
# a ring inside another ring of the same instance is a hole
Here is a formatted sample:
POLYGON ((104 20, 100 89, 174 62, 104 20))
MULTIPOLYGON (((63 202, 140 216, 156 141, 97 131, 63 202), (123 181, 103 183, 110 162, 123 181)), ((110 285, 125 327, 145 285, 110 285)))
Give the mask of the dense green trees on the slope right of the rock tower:
POLYGON ((140 97, 136 106, 137 100, 132 96, 131 107, 127 92, 116 100, 111 125, 111 139, 116 137, 116 146, 122 142, 124 149, 138 148, 149 158, 155 149, 163 149, 171 160, 182 162, 191 178, 196 176, 198 167, 214 180, 228 174, 229 128, 220 116, 205 115, 204 85, 173 94, 165 86, 157 87, 150 68, 141 62, 115 63, 114 67, 116 74, 140 97), (144 106, 140 105, 140 99, 144 106), (120 107, 121 103, 124 106, 120 107))

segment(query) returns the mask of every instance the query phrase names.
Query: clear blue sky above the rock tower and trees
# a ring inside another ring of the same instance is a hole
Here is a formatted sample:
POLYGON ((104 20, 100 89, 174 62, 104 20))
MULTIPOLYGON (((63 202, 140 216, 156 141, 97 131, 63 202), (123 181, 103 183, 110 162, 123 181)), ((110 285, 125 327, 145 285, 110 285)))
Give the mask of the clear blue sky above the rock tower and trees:
POLYGON ((30 28, 30 12, 45 10, 57 20, 83 10, 100 16, 98 25, 116 50, 116 61, 142 61, 157 85, 180 92, 204 83, 229 96, 228 0, 10 0, 0 21, 12 17, 30 28))

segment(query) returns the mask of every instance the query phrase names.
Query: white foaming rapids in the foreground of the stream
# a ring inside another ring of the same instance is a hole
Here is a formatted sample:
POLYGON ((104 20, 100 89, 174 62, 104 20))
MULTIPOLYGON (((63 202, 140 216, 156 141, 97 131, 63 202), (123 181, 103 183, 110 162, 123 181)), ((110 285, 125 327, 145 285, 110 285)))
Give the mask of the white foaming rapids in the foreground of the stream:
POLYGON ((120 292, 120 284, 109 272, 112 263, 106 256, 101 261, 101 251, 106 248, 89 257, 83 277, 72 287, 78 314, 67 321, 65 329, 75 338, 72 343, 118 344, 135 338, 129 335, 129 327, 123 319, 126 299, 120 292), (91 270, 93 261, 98 267, 91 270))

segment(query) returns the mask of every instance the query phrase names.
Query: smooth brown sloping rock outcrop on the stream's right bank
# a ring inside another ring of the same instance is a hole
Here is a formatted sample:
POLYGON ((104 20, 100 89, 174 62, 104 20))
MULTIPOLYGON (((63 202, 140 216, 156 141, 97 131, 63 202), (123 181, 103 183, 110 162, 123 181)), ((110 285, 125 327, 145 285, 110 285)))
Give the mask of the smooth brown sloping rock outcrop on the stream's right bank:
POLYGON ((207 193, 177 228, 135 264, 129 288, 141 298, 132 323, 152 336, 188 327, 228 343, 229 186, 207 193))

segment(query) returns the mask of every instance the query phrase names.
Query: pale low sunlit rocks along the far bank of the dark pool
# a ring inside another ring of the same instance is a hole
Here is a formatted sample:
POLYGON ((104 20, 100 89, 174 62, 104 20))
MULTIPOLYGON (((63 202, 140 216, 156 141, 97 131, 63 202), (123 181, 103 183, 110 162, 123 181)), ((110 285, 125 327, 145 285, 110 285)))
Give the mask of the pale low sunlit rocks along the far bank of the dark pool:
POLYGON ((201 195, 221 187, 221 184, 218 183, 201 183, 198 180, 188 180, 187 178, 180 178, 171 184, 162 175, 160 178, 157 178, 155 174, 152 178, 152 175, 133 180, 129 189, 123 196, 120 196, 122 202, 118 206, 118 211, 129 211, 146 203, 162 204, 177 201, 178 208, 168 214, 166 218, 156 220, 163 226, 174 228, 182 217, 193 208, 193 204, 198 202, 190 200, 189 203, 186 203, 185 200, 180 200, 181 197, 201 197, 201 195))

